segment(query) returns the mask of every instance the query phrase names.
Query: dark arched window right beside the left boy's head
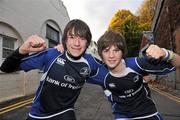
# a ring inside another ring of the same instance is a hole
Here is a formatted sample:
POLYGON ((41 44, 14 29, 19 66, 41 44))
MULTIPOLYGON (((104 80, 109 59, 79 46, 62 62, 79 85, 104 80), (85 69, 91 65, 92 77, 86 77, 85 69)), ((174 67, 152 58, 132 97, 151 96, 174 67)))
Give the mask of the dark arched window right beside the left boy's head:
POLYGON ((49 47, 59 44, 59 31, 47 24, 46 38, 49 40, 49 47))

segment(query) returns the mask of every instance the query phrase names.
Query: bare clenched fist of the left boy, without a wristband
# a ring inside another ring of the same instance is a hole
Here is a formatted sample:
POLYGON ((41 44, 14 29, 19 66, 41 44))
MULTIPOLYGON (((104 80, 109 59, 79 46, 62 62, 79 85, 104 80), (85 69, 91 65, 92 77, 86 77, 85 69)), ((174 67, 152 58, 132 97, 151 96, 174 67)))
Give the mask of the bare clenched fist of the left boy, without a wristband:
POLYGON ((46 48, 46 42, 37 35, 32 35, 20 46, 20 54, 39 52, 46 48))

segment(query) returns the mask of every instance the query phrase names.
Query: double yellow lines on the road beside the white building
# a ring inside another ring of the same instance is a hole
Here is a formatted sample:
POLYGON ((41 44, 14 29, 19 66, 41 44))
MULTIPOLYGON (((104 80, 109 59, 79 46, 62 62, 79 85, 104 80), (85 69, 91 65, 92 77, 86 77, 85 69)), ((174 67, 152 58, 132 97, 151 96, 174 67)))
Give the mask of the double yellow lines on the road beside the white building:
POLYGON ((0 109, 0 115, 32 103, 33 98, 0 109))

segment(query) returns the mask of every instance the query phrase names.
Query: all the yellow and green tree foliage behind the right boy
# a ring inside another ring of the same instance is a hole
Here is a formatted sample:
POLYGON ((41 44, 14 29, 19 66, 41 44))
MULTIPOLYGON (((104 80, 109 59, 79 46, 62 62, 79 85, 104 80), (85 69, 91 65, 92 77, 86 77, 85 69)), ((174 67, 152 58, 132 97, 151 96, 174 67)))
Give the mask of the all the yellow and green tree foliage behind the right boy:
POLYGON ((150 30, 157 0, 144 0, 138 16, 129 10, 118 10, 112 17, 108 30, 120 32, 127 42, 128 56, 138 56, 142 32, 150 30))

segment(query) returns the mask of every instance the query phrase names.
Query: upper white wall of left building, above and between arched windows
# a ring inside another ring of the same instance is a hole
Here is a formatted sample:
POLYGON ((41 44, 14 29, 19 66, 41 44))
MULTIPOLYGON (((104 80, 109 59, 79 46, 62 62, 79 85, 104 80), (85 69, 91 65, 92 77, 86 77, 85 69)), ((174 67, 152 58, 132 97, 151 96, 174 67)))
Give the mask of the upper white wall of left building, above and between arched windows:
POLYGON ((55 21, 61 30, 64 29, 69 16, 60 0, 0 1, 0 21, 15 28, 23 40, 32 34, 41 34, 47 20, 55 21))

